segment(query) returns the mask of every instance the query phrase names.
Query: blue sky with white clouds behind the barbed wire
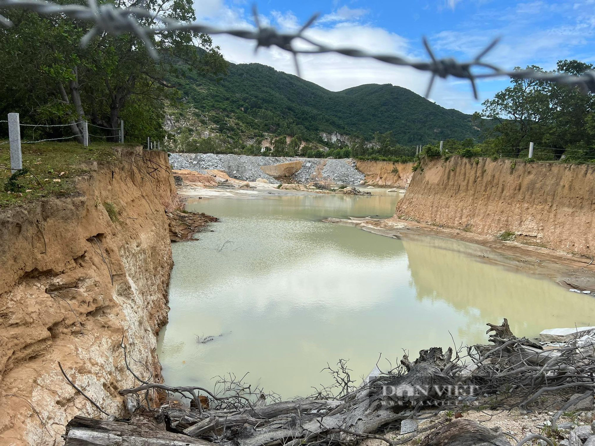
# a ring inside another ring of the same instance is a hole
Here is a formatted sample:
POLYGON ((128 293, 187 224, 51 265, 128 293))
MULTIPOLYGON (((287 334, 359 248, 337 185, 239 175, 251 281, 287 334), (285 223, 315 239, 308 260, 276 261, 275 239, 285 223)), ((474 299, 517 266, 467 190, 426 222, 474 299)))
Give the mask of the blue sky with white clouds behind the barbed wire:
MULTIPOLYGON (((308 35, 329 46, 352 46, 374 53, 427 60, 422 36, 440 58, 472 58, 494 37, 501 43, 486 61, 502 68, 540 65, 555 68, 558 59, 595 63, 595 0, 256 0, 260 19, 293 30, 314 12, 321 14, 308 35)), ((252 2, 197 0, 199 21, 215 26, 253 27, 252 2)), ((253 43, 230 36, 214 38, 231 62, 259 62, 294 73, 289 54, 280 49, 253 52, 253 43)), ((424 95, 428 74, 370 59, 341 55, 300 56, 302 77, 330 90, 366 83, 391 83, 424 95)), ((480 83, 480 100, 469 83, 449 79, 434 84, 430 99, 464 112, 481 110, 508 80, 480 83)))

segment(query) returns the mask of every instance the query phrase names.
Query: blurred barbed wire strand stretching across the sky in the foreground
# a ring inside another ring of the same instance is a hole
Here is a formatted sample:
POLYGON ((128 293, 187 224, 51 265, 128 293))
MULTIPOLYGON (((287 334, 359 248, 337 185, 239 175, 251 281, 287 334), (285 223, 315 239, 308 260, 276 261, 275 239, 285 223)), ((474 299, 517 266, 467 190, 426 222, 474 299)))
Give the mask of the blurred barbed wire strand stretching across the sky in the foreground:
MULTIPOLYGON (((434 85, 436 77, 456 77, 466 79, 471 83, 474 98, 478 98, 476 81, 494 77, 512 77, 516 79, 552 81, 580 87, 584 92, 595 93, 595 71, 587 71, 580 76, 566 73, 551 73, 535 70, 505 70, 496 65, 484 62, 484 56, 488 54, 498 43, 494 39, 483 51, 470 61, 459 62, 454 58, 436 58, 428 40, 423 38, 425 51, 429 61, 415 61, 399 55, 371 54, 355 48, 331 48, 323 43, 303 35, 306 29, 312 26, 318 18, 318 14, 312 15, 302 27, 296 32, 283 33, 274 27, 263 26, 258 18, 256 7, 253 7, 255 30, 248 29, 222 29, 201 23, 183 23, 171 18, 158 15, 157 12, 146 10, 142 7, 119 8, 111 3, 99 5, 96 0, 87 0, 87 5, 59 5, 53 2, 42 0, 0 0, 0 9, 21 8, 45 15, 62 15, 73 19, 89 21, 93 27, 81 39, 82 46, 89 44, 93 37, 101 33, 119 35, 132 33, 145 44, 149 55, 158 59, 159 55, 155 49, 150 36, 167 32, 196 32, 203 34, 228 34, 242 39, 254 40, 256 48, 269 48, 277 46, 280 49, 292 53, 296 66, 297 75, 300 76, 297 56, 300 54, 325 54, 336 53, 355 58, 371 58, 377 61, 392 65, 408 66, 420 71, 431 73, 430 82, 425 93, 428 98, 434 85), (143 25, 139 20, 148 21, 149 25, 143 25), (310 49, 298 49, 295 43, 301 42, 311 45, 310 49), (474 70, 487 70, 487 73, 474 73, 474 70)), ((0 24, 12 26, 7 18, 0 15, 0 24)))

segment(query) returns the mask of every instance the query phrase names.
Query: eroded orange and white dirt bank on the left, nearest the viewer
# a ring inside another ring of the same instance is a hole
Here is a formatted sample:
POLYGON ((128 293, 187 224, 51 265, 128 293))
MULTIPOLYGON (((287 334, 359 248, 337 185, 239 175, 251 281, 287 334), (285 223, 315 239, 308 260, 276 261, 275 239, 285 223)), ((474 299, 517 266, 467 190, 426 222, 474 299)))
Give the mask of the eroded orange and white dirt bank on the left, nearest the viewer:
POLYGON ((62 444, 74 415, 99 414, 58 361, 116 415, 117 390, 134 384, 122 339, 134 372, 159 379, 173 265, 165 211, 177 206, 167 156, 127 152, 77 186, 79 196, 0 211, 1 444, 62 444))

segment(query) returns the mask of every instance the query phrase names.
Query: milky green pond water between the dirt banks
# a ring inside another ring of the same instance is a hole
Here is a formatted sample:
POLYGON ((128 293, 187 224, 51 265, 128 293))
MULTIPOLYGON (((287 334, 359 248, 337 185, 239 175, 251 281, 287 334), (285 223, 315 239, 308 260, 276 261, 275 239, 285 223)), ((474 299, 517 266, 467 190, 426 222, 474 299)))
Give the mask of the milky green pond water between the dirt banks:
POLYGON ((250 372, 253 385, 290 398, 330 384, 327 362, 349 359, 352 376, 367 375, 380 353, 395 364, 403 348, 415 359, 452 345, 450 334, 457 344, 485 342, 486 322, 503 317, 519 336, 595 322, 593 297, 487 263, 475 245, 320 221, 389 216, 397 199, 191 199, 187 209, 221 221, 198 241, 173 244, 158 346, 165 382, 212 387, 214 376, 250 372))

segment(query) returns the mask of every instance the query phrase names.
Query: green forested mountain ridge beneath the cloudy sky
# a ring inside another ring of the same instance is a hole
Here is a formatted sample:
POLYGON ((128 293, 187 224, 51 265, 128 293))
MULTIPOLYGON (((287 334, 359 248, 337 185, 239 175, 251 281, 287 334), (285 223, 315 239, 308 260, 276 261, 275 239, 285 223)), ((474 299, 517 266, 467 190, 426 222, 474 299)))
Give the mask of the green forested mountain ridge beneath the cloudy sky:
POLYGON ((480 134, 471 115, 390 84, 331 92, 261 64, 230 64, 219 80, 189 74, 173 82, 196 118, 236 140, 276 134, 315 141, 320 132, 372 140, 376 132, 392 131, 397 143, 417 145, 480 134))

